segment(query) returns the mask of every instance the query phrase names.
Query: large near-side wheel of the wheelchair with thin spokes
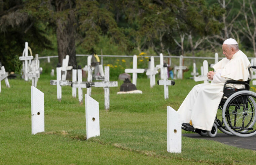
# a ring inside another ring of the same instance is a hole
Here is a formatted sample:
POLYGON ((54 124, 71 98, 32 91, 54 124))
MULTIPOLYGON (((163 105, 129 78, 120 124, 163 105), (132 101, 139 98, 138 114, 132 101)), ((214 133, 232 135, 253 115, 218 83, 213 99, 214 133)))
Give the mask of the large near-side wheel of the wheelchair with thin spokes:
POLYGON ((232 94, 223 106, 222 118, 227 130, 239 137, 256 134, 256 93, 239 91, 232 94))

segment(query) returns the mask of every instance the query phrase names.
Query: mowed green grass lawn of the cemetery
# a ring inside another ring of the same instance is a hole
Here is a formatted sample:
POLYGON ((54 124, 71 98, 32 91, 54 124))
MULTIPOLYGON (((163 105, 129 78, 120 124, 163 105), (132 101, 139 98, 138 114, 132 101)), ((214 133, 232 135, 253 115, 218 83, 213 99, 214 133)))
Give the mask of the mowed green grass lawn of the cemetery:
MULTIPOLYGON (((57 87, 41 75, 37 88, 44 93, 45 132, 31 134, 31 81, 2 81, 0 93, 0 164, 256 164, 256 152, 215 141, 182 137, 182 153, 167 152, 167 106, 178 109, 198 83, 176 80, 164 100, 163 86, 150 88, 137 80, 143 94, 117 95, 110 88, 110 111, 104 110, 103 88, 93 88, 99 102, 100 136, 86 140, 85 105, 72 98, 71 87, 57 87)), ((83 90, 86 93, 86 89, 83 90)), ((84 98, 83 98, 84 102, 84 98)), ((182 130, 182 133, 187 133, 182 130)))

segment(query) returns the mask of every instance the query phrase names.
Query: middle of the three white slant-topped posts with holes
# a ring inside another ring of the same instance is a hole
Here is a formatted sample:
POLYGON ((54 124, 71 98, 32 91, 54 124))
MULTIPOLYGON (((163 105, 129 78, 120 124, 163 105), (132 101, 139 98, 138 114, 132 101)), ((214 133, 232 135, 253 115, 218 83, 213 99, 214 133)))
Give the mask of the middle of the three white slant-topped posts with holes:
POLYGON ((99 103, 85 94, 86 139, 100 135, 99 103))

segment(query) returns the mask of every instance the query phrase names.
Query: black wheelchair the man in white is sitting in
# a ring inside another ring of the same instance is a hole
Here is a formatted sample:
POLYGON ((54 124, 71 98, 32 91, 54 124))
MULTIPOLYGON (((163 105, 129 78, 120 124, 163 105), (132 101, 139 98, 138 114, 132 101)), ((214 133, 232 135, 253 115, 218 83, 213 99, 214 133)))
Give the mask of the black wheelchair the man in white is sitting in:
MULTIPOLYGON (((256 69, 256 66, 250 66, 256 69)), ((256 93, 250 90, 250 80, 228 80, 223 87, 223 97, 211 131, 202 130, 202 136, 215 137, 217 130, 228 135, 250 137, 256 134, 256 93), (242 84, 244 89, 226 87, 227 84, 242 84)))

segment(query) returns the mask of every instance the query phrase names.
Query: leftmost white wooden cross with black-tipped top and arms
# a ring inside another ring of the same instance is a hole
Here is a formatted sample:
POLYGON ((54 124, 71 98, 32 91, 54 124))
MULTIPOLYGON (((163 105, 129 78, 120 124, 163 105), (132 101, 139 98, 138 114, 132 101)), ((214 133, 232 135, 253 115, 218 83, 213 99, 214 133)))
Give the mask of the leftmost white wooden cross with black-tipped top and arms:
POLYGON ((61 64, 57 64, 56 68, 57 80, 50 80, 50 85, 57 85, 57 99, 61 101, 61 87, 71 86, 71 81, 61 80, 61 64))

